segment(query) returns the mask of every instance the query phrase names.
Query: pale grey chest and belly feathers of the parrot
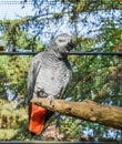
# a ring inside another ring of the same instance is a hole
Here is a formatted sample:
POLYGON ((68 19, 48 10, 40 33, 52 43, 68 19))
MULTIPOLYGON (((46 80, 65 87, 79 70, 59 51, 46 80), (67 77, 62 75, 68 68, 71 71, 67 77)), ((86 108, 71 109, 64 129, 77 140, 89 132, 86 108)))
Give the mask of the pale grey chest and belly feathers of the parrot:
POLYGON ((38 73, 34 93, 38 93, 38 96, 60 97, 70 79, 71 69, 64 62, 51 63, 51 65, 44 63, 38 73))

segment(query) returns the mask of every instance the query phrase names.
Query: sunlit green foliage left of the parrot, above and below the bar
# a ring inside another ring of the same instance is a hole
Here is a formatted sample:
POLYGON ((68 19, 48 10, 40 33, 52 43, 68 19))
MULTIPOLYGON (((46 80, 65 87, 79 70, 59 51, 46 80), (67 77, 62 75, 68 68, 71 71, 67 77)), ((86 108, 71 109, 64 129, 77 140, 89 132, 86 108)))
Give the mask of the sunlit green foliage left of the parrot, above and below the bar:
MULTIPOLYGON (((41 51, 37 37, 21 29, 21 21, 3 21, 0 42, 9 51, 41 51)), ((0 56, 0 140, 26 140, 28 132, 28 111, 23 104, 27 95, 27 78, 32 56, 0 56), (14 93, 8 101, 7 90, 14 93), (18 104, 16 104, 18 103, 18 104), (16 106, 17 105, 17 106, 16 106)))

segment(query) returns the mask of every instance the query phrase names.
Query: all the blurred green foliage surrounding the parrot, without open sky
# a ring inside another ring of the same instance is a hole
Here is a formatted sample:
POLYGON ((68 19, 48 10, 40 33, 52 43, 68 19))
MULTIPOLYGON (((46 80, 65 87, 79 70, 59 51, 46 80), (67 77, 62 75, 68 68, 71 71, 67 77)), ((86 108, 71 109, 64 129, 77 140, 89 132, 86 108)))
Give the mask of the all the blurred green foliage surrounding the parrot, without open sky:
MULTIPOLYGON (((59 0, 55 0, 55 6, 59 0)), ((85 24, 90 13, 99 14, 109 10, 122 10, 121 0, 62 0, 65 7, 61 12, 38 17, 26 17, 21 20, 0 21, 0 45, 8 51, 42 51, 43 44, 40 42, 38 34, 29 32, 30 25, 40 29, 41 32, 49 22, 57 24, 65 14, 69 17, 69 23, 75 25, 82 21, 85 24), (80 19, 81 14, 85 17, 80 19), (52 18, 51 18, 52 16, 52 18), (37 19, 39 18, 39 19, 37 19), (49 19, 50 18, 50 19, 49 19), (33 21, 34 20, 34 21, 33 21), (33 23, 31 23, 33 21, 33 23), (38 21, 38 23, 37 23, 38 21), (45 23, 44 23, 44 22, 45 23), (40 27, 39 27, 40 25, 40 27), (38 28, 39 27, 39 28, 38 28)), ((42 2, 43 3, 43 2, 42 2)), ((34 1, 35 4, 35 1, 34 1)), ((41 3, 37 3, 35 6, 41 3)), ((47 10, 50 7, 47 7, 47 10)), ((39 10, 40 11, 40 10, 39 10)), ((114 12, 114 11, 112 11, 114 12)), ((38 13, 38 12, 37 12, 38 13)), ((40 13, 39 13, 40 14, 40 13)), ((77 51, 122 51, 122 23, 114 18, 101 18, 98 35, 88 38, 87 35, 77 37, 77 51), (116 22, 116 23, 115 23, 116 22)), ((1 50, 1 49, 0 49, 1 50)), ((30 138, 28 133, 28 113, 20 97, 27 95, 27 75, 32 56, 0 56, 0 140, 27 140, 30 138), (7 85, 9 90, 16 93, 16 97, 7 101, 7 85), (16 107, 14 100, 18 99, 19 106, 16 107)), ((106 103, 111 105, 122 106, 122 58, 111 55, 82 55, 69 56, 72 69, 72 83, 65 95, 71 101, 83 101, 91 99, 98 103, 106 103)), ((22 100, 23 101, 23 100, 22 100)), ((111 128, 92 124, 89 122, 75 120, 73 117, 61 119, 60 133, 64 135, 67 141, 81 140, 87 130, 92 130, 92 134, 87 136, 110 137, 111 128)), ((121 138, 121 132, 114 132, 114 138, 121 138)), ((94 140, 95 141, 95 140, 94 140)))

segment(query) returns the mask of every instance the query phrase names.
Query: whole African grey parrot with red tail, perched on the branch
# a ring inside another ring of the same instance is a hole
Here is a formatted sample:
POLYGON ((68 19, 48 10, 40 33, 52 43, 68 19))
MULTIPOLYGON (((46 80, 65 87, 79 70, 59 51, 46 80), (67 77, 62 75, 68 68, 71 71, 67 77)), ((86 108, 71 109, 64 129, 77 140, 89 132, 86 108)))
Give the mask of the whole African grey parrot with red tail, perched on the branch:
POLYGON ((62 33, 51 41, 44 51, 37 54, 28 74, 29 131, 40 134, 53 112, 30 103, 32 97, 48 97, 51 104, 54 99, 63 99, 71 81, 72 71, 68 52, 74 48, 72 37, 62 33))

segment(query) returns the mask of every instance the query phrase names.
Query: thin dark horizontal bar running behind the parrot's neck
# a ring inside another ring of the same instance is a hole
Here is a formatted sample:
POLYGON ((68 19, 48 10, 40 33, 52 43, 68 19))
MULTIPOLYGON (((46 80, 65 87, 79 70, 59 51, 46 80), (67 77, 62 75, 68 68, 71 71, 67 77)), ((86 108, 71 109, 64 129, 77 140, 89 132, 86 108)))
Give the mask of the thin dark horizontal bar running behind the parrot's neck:
MULTIPOLYGON (((39 52, 0 52, 0 55, 35 55, 39 52)), ((69 52, 68 55, 120 55, 122 52, 69 52)))

